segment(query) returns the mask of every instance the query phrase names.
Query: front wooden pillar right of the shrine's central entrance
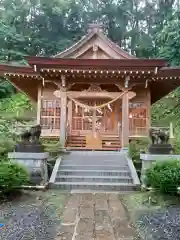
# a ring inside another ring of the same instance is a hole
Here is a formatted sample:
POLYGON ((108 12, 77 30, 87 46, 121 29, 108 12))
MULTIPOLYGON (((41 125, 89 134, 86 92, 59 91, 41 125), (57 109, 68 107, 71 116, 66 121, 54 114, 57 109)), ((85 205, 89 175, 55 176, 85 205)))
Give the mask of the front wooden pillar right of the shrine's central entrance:
POLYGON ((129 144, 129 96, 128 92, 122 97, 122 147, 129 144))

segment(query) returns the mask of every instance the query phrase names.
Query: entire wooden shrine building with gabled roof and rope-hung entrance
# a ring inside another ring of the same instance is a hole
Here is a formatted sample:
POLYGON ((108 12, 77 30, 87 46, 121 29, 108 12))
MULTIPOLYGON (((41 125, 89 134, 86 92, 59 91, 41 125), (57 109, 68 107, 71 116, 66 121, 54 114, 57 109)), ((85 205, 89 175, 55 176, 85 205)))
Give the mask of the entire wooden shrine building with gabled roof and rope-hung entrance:
POLYGON ((25 59, 29 66, 0 65, 1 76, 37 103, 42 137, 68 149, 118 150, 147 137, 151 104, 180 81, 180 68, 130 55, 97 24, 56 56, 25 59))

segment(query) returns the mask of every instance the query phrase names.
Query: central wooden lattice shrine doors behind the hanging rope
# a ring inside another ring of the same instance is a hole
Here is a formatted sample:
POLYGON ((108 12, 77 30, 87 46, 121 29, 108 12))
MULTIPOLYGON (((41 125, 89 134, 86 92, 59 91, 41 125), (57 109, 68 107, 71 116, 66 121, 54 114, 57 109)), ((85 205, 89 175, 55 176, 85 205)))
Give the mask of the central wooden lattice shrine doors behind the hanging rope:
MULTIPOLYGON (((87 106, 99 106, 107 103, 107 100, 83 100, 87 106)), ((86 135, 99 132, 101 135, 117 134, 116 105, 109 104, 102 108, 88 109, 73 103, 72 134, 86 135)))

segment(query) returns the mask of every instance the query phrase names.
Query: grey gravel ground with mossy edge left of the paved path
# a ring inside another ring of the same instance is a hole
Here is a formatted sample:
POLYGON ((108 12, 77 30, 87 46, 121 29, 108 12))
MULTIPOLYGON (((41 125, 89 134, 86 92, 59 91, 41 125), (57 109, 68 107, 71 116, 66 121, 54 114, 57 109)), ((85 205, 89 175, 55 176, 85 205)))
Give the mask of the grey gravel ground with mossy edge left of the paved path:
POLYGON ((53 240, 67 195, 32 193, 0 205, 2 240, 53 240), (40 196, 39 196, 40 195, 40 196), (59 196, 60 195, 60 196, 59 196))

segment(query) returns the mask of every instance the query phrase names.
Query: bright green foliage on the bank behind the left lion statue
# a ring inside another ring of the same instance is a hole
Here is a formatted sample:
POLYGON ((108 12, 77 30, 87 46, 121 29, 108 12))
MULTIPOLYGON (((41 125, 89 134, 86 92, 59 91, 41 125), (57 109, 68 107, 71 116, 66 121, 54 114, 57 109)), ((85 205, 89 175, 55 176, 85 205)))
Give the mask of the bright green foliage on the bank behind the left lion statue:
POLYGON ((34 113, 35 108, 21 93, 0 101, 0 157, 13 151, 22 128, 30 124, 34 113))

